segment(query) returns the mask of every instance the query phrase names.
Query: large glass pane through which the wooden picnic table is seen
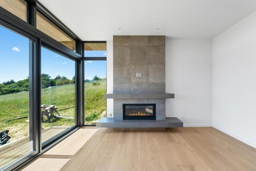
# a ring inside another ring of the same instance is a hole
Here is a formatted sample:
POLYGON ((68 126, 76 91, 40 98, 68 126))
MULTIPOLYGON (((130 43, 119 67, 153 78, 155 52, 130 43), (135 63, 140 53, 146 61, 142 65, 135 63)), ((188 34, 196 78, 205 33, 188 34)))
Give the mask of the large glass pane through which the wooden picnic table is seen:
POLYGON ((75 125, 75 62, 41 48, 42 143, 75 125))

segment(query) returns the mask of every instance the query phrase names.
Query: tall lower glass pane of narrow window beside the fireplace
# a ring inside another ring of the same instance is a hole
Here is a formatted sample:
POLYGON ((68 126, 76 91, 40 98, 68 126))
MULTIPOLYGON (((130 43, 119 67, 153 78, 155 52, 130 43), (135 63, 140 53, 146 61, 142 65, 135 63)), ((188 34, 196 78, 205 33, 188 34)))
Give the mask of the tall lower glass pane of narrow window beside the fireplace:
POLYGON ((94 124, 106 117, 106 61, 84 61, 84 76, 84 122, 94 124))

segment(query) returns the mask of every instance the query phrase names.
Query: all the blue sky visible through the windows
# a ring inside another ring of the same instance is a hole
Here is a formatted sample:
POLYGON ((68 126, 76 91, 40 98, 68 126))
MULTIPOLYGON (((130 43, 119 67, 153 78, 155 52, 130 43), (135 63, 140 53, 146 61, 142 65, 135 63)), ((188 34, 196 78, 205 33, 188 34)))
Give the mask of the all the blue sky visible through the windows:
MULTIPOLYGON (((29 76, 28 39, 0 26, 0 83, 8 80, 24 80, 29 76)), ((41 73, 52 78, 75 75, 75 62, 55 52, 41 49, 41 73)), ((86 51, 88 57, 106 57, 106 51, 86 51)), ((106 61, 85 61, 85 79, 92 80, 97 75, 106 78, 106 61)))

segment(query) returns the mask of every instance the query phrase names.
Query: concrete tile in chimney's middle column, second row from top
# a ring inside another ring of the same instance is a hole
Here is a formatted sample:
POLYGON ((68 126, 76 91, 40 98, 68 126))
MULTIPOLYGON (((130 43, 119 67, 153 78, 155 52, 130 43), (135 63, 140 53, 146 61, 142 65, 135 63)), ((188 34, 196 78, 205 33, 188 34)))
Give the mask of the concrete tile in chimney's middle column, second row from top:
POLYGON ((146 65, 148 61, 148 46, 130 46, 130 64, 146 65))

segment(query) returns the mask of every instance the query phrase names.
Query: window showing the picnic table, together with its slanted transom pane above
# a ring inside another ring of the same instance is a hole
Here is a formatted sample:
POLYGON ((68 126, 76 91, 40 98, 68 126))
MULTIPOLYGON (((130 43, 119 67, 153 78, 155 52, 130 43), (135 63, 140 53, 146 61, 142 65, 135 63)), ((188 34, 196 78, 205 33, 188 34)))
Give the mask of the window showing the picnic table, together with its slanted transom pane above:
MULTIPOLYGON (((76 50, 76 41, 50 19, 36 12, 36 28, 51 38, 76 50)), ((41 132, 42 145, 76 124, 76 61, 61 55, 44 42, 41 48, 41 132)))

